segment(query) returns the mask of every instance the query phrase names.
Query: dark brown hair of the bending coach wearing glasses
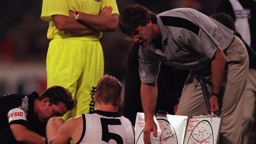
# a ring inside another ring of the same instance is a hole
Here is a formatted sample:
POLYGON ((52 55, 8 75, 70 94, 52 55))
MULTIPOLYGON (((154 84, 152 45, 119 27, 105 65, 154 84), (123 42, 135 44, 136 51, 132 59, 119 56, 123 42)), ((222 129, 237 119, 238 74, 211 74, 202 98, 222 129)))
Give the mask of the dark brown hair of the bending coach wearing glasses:
POLYGON ((131 34, 138 26, 145 26, 151 20, 156 24, 156 14, 139 4, 126 7, 119 17, 119 27, 124 34, 131 34))

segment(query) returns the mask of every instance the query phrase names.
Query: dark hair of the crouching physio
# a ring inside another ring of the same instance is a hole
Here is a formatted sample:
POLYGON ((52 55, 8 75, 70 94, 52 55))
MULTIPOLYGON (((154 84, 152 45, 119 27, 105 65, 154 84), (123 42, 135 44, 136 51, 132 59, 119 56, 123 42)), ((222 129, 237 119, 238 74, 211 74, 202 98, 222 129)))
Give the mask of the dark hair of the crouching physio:
POLYGON ((58 105, 60 102, 64 103, 68 111, 76 106, 76 100, 72 99, 72 94, 61 86, 49 87, 40 94, 38 100, 41 101, 45 98, 49 98, 50 105, 58 105))

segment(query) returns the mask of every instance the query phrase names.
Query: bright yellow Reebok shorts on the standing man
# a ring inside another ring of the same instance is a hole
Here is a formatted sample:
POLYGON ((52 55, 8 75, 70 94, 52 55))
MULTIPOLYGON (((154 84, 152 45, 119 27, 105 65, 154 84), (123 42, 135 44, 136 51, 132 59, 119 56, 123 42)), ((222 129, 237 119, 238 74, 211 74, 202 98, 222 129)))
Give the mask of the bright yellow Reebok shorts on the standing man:
POLYGON ((63 120, 95 110, 96 84, 104 72, 104 57, 98 39, 55 35, 49 44, 46 69, 47 87, 65 87, 78 101, 76 107, 62 117, 63 120))

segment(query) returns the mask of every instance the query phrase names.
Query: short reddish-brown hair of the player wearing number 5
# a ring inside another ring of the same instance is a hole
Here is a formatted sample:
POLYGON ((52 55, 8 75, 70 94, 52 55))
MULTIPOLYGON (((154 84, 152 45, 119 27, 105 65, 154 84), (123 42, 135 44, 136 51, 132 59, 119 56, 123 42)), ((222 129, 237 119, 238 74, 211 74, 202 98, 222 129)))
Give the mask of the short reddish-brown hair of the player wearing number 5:
POLYGON ((97 103, 117 106, 121 98, 121 92, 122 84, 120 81, 106 74, 100 78, 96 87, 97 103))

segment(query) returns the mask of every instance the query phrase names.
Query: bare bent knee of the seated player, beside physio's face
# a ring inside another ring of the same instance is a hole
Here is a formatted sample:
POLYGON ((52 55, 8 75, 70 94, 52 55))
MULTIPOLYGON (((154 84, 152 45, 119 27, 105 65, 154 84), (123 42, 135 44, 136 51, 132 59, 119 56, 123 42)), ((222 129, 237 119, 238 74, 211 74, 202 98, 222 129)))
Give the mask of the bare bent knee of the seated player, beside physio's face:
POLYGON ((63 119, 57 117, 52 117, 48 120, 46 125, 46 138, 48 144, 57 135, 59 127, 61 127, 64 122, 65 121, 63 119))

